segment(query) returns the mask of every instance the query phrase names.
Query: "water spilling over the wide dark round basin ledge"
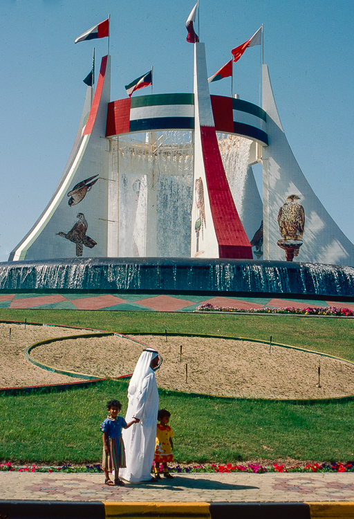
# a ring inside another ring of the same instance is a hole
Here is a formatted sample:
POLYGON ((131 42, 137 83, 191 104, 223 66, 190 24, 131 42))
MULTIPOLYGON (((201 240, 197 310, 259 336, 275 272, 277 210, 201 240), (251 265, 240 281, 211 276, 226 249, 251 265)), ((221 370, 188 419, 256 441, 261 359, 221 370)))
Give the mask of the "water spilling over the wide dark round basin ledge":
POLYGON ((350 266, 200 258, 0 263, 0 291, 131 291, 354 297, 350 266))

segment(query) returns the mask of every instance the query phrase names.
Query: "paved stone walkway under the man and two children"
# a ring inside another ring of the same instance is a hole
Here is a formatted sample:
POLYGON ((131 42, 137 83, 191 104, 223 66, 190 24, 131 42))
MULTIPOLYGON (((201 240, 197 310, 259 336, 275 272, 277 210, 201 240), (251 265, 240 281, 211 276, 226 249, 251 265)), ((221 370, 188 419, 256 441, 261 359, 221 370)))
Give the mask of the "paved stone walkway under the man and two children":
MULTIPOLYGON (((131 507, 133 502, 229 502, 234 505, 232 510, 221 509, 215 513, 215 517, 249 517, 249 518, 292 518, 305 519, 317 518, 352 518, 354 501, 354 477, 353 473, 181 473, 174 474, 174 482, 162 480, 152 487, 149 483, 139 485, 126 484, 122 486, 105 486, 104 475, 93 473, 68 474, 68 473, 24 473, 18 471, 0 471, 1 486, 1 516, 6 516, 8 507, 12 503, 20 506, 21 512, 16 513, 13 508, 9 519, 26 517, 24 510, 28 502, 28 517, 65 517, 64 510, 58 513, 59 507, 55 502, 126 502, 131 507), (48 502, 48 509, 44 511, 38 506, 48 502), (316 502, 317 507, 323 505, 322 511, 317 513, 299 513, 294 507, 298 502, 316 502), (330 507, 332 502, 333 507, 330 507), (254 509, 244 510, 245 503, 252 503, 254 509), (262 504, 266 503, 264 509, 262 504), (279 503, 279 509, 272 509, 270 503, 279 503), (292 505, 292 513, 287 515, 284 504, 292 505), (33 505, 37 506, 33 513, 33 505), (243 508, 237 509, 241 504, 243 508), (344 507, 340 506, 341 504, 344 507), (53 513, 51 509, 55 509, 53 513), (342 508, 342 510, 340 509, 342 508), (343 509, 344 508, 344 509, 343 509), (31 511, 31 513, 30 513, 31 511), (221 513, 223 511, 223 514, 221 513), (37 515, 36 515, 37 513, 37 515)), ((70 508, 72 511, 72 507, 70 508)), ((131 508, 130 510, 131 511, 131 508)), ((75 517, 85 517, 82 511, 77 510, 75 517)), ((132 516, 131 514, 130 516, 132 516)), ((146 515, 146 514, 145 514, 146 515)), ((93 513, 87 513, 93 517, 93 513)), ((119 514, 120 516, 120 514, 119 514)), ((122 513, 122 517, 128 517, 129 513, 122 513)), ((135 515, 138 517, 138 515, 135 515)), ((152 516, 152 514, 151 514, 152 516)), ((157 514, 156 514, 157 516, 157 514)), ((156 517, 155 516, 155 517, 156 517)), ((167 514, 166 514, 167 516, 167 514)), ((185 514, 187 516, 187 514, 185 514)), ((197 516, 197 514, 196 514, 197 516)), ((73 519, 74 514, 68 513, 67 518, 73 519)), ((113 514, 112 514, 113 517, 113 514)), ((115 515, 118 517, 118 514, 115 515)), ((140 516, 142 517, 142 516, 140 516)), ((172 514, 169 515, 172 517, 172 514)), ((183 513, 174 517, 183 517, 183 513)), ((191 517, 188 515, 188 517, 191 517)), ((100 519, 97 514, 97 519, 100 519)))

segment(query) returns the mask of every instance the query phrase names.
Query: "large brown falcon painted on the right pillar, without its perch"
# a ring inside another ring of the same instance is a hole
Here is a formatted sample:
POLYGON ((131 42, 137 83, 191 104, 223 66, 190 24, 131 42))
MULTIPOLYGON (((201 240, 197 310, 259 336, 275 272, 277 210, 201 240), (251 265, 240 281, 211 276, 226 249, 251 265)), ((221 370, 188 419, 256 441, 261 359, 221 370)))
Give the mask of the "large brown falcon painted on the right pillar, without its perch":
POLYGON ((279 209, 278 223, 283 239, 302 239, 304 235, 305 211, 297 202, 299 199, 297 194, 290 194, 279 209))

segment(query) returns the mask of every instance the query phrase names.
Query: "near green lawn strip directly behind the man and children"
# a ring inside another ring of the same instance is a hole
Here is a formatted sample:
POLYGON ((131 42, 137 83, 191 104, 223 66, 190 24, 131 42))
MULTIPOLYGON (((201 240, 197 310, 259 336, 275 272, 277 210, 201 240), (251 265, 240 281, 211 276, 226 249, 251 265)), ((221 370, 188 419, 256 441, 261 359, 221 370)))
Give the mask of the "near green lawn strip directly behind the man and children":
MULTIPOLYGON (((1 397, 0 458, 19 463, 97 463, 105 403, 127 406, 127 383, 105 381, 86 390, 1 397)), ((248 459, 353 459, 354 403, 286 403, 205 399, 160 391, 171 412, 178 462, 248 459)))

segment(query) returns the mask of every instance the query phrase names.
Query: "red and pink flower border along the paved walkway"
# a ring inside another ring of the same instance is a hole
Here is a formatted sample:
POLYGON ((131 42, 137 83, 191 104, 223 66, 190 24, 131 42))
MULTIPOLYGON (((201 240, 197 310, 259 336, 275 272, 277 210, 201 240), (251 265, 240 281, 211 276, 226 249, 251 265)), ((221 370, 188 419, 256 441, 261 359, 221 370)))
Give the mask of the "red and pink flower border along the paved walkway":
MULTIPOLYGON (((0 463, 0 471, 17 471, 17 472, 46 472, 46 473, 80 473, 80 472, 89 472, 89 473, 100 473, 102 472, 102 468, 100 464, 94 465, 86 465, 86 466, 72 466, 70 464, 65 464, 57 467, 46 467, 41 465, 26 465, 26 466, 15 466, 10 462, 0 463)), ((284 466, 284 464, 278 465, 274 463, 272 466, 263 466, 258 463, 248 463, 245 465, 233 465, 232 463, 227 463, 226 465, 176 465, 169 468, 170 472, 174 473, 230 473, 230 472, 248 472, 254 474, 263 474, 274 473, 274 472, 354 472, 354 462, 325 462, 322 464, 313 463, 306 464, 305 466, 300 465, 292 465, 292 466, 284 466)))

